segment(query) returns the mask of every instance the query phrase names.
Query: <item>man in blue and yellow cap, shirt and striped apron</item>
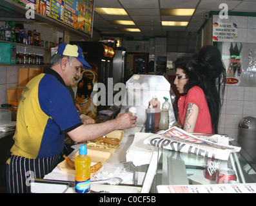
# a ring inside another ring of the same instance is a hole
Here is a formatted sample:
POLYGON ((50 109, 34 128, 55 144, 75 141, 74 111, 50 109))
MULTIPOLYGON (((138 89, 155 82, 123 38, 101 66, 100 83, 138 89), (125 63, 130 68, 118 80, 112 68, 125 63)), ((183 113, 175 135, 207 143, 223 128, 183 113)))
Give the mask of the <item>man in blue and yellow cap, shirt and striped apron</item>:
POLYGON ((82 67, 91 68, 79 46, 60 44, 50 64, 28 82, 19 100, 14 145, 6 164, 8 192, 28 192, 27 178, 43 178, 56 167, 64 134, 84 142, 136 124, 132 113, 119 113, 101 124, 90 124, 94 120, 79 116, 66 88, 81 75, 82 67))

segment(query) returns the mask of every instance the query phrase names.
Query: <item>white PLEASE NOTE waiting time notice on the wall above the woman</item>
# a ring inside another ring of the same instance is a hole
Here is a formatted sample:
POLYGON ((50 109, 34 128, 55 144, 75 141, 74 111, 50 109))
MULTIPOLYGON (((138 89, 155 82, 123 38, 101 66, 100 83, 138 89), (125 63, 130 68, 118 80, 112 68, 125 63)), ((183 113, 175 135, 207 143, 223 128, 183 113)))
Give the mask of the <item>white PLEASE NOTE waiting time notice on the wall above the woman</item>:
POLYGON ((233 42, 237 39, 237 24, 213 23, 213 41, 233 42))

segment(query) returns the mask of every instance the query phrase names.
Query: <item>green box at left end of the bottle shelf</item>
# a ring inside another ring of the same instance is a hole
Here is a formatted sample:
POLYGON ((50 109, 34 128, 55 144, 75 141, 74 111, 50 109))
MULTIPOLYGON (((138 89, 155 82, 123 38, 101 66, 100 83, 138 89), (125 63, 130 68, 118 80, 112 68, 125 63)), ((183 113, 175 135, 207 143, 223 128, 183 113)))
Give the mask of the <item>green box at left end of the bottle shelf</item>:
POLYGON ((0 64, 16 64, 16 44, 0 42, 0 64))

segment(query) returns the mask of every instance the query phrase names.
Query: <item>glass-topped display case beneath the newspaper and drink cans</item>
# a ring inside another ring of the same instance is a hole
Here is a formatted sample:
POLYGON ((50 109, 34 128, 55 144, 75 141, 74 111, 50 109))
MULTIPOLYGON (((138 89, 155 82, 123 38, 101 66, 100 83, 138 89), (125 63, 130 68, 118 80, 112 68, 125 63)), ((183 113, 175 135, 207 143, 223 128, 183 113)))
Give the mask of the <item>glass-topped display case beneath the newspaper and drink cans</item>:
MULTIPOLYGON (((239 144, 230 138, 230 145, 239 144)), ((256 162, 241 148, 239 153, 231 153, 227 161, 212 160, 195 154, 185 154, 159 148, 157 170, 151 192, 158 192, 157 185, 210 185, 217 183, 217 176, 209 178, 209 165, 215 171, 229 168, 235 171, 236 181, 228 183, 255 183, 256 162), (210 180, 212 179, 212 180, 210 180)))

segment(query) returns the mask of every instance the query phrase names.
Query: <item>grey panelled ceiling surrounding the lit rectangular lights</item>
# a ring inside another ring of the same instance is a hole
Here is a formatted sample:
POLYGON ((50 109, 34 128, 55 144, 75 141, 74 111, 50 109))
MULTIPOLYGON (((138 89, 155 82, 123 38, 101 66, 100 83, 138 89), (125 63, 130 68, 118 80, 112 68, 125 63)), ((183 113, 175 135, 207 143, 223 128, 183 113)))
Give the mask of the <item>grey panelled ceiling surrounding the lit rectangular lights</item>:
POLYGON ((204 14, 220 11, 221 3, 233 12, 256 12, 256 0, 95 0, 95 7, 124 8, 128 15, 98 15, 95 12, 94 28, 106 33, 120 33, 117 28, 139 28, 141 32, 123 32, 124 35, 148 36, 166 35, 167 31, 197 32, 205 21, 204 14), (192 17, 160 15, 161 8, 195 8, 192 17), (108 21, 128 20, 136 26, 111 25, 108 21), (186 27, 161 26, 161 21, 189 21, 186 27), (112 30, 112 31, 111 31, 112 30))

